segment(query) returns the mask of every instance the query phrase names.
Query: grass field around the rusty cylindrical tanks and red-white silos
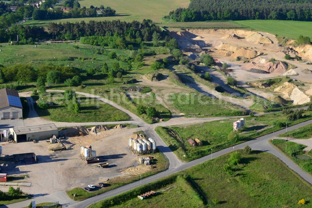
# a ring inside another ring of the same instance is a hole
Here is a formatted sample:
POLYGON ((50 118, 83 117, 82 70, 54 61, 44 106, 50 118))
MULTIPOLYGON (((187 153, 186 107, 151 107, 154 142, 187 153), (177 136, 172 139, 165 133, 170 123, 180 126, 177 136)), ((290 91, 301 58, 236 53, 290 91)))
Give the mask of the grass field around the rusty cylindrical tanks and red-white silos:
POLYGON ((306 111, 304 118, 299 121, 287 121, 287 116, 281 113, 271 113, 254 117, 248 116, 245 117, 245 127, 238 132, 239 138, 237 139, 235 139, 236 133, 233 132, 233 122, 236 119, 205 122, 196 125, 158 126, 155 130, 180 160, 192 161, 211 154, 211 149, 213 152, 216 152, 285 128, 286 122, 288 126, 295 125, 298 122, 311 119, 311 116, 311 111, 306 111), (281 125, 284 127, 280 127, 281 125), (168 129, 175 130, 183 142, 171 136, 168 133, 168 129), (202 141, 203 146, 190 146, 188 139, 192 136, 193 138, 198 137, 202 141))

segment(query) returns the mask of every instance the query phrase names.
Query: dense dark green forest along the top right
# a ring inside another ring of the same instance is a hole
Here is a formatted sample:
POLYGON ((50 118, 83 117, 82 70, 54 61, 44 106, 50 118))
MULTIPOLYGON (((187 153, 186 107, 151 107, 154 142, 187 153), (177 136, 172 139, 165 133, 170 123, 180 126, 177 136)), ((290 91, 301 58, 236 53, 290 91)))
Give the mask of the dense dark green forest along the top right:
POLYGON ((188 8, 171 11, 164 19, 181 22, 251 19, 312 21, 312 1, 193 0, 188 8))

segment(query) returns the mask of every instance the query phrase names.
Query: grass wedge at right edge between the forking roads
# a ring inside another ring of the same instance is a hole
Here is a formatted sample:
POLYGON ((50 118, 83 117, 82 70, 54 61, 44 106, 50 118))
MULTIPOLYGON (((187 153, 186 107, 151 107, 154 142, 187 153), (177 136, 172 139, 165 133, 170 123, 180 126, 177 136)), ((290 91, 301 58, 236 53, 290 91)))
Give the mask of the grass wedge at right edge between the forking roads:
MULTIPOLYGON (((283 139, 274 139, 271 142, 287 157, 297 163, 304 171, 312 175, 312 160, 301 160, 295 157, 295 155, 306 154, 303 149, 307 146, 283 139)), ((308 152, 308 155, 312 156, 312 151, 308 152)))

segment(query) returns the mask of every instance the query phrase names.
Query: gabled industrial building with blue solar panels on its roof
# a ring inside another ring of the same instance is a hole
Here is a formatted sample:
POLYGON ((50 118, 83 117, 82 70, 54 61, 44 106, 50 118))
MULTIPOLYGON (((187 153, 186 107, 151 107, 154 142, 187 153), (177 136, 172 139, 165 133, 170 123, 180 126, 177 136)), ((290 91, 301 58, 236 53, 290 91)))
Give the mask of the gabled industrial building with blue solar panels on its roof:
POLYGON ((17 90, 2 88, 0 90, 1 119, 17 119, 23 117, 23 107, 17 90))

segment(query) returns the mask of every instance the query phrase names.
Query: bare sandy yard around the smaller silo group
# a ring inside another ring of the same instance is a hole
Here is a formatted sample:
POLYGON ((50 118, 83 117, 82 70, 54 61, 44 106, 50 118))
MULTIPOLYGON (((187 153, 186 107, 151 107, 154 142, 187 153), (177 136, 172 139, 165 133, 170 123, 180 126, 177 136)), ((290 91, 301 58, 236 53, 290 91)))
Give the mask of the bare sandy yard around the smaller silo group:
MULTIPOLYGON (((31 182, 32 186, 22 186, 22 190, 31 194, 50 194, 96 184, 107 178, 138 175, 149 171, 149 168, 140 165, 139 157, 127 149, 128 137, 134 131, 137 130, 112 129, 98 135, 71 137, 65 142, 70 147, 69 150, 60 152, 50 151, 50 148, 58 144, 49 144, 46 141, 15 144, 3 142, 1 146, 4 154, 34 152, 39 160, 38 163, 29 165, 5 163, 4 169, 9 175, 27 174, 29 178, 23 181, 31 182), (108 162, 110 166, 99 168, 96 163, 85 164, 80 159, 80 146, 86 145, 91 145, 92 150, 96 150, 97 157, 108 162)), ((7 187, 0 186, 0 190, 7 191, 7 187)))

